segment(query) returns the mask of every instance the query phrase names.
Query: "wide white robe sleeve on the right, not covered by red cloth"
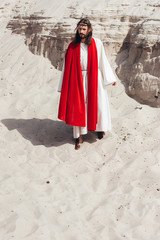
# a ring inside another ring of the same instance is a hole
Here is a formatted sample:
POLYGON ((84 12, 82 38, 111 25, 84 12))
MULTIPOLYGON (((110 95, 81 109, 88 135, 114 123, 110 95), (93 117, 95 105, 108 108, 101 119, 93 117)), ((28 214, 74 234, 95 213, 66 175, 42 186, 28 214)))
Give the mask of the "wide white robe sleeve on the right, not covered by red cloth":
POLYGON ((103 43, 101 44, 101 72, 103 75, 104 85, 109 85, 117 81, 116 76, 110 66, 110 63, 106 57, 103 43))

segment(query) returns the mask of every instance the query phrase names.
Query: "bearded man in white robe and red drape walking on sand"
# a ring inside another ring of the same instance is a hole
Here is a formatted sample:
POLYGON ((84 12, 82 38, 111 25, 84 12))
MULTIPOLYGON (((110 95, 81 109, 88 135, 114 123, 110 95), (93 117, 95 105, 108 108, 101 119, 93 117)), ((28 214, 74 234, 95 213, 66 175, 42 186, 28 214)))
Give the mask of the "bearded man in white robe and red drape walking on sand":
POLYGON ((98 132, 103 138, 111 130, 111 117, 105 85, 116 85, 116 78, 106 58, 101 40, 92 37, 87 18, 77 24, 69 44, 58 91, 61 92, 58 118, 73 126, 75 149, 83 143, 82 135, 98 132))

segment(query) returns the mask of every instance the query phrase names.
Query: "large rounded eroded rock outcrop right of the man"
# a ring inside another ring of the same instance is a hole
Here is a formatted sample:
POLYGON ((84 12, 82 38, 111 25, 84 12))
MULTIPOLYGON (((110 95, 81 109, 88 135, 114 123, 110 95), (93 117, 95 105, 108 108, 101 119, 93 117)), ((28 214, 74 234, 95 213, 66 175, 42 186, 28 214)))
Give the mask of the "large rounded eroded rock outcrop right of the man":
POLYGON ((160 107, 160 21, 144 21, 130 29, 116 69, 126 92, 141 103, 160 107))

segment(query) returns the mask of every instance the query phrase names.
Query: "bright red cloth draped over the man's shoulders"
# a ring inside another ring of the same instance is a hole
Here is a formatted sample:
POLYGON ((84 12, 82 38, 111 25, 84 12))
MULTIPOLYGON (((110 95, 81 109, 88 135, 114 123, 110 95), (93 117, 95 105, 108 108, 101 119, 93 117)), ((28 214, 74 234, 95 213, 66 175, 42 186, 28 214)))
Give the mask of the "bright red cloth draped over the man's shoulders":
MULTIPOLYGON (((98 103, 98 56, 95 40, 88 47, 87 128, 95 131, 98 103)), ((86 126, 80 43, 71 42, 65 55, 65 69, 58 118, 73 126, 86 126)))

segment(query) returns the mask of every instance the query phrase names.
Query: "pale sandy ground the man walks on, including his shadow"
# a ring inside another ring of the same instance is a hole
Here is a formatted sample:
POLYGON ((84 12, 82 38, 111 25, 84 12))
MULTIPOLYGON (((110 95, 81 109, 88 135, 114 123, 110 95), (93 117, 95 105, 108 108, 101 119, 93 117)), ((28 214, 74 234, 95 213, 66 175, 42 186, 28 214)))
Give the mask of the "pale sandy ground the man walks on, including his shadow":
POLYGON ((0 41, 0 239, 159 240, 160 109, 107 87, 112 131, 57 119, 60 72, 10 31, 0 41))

